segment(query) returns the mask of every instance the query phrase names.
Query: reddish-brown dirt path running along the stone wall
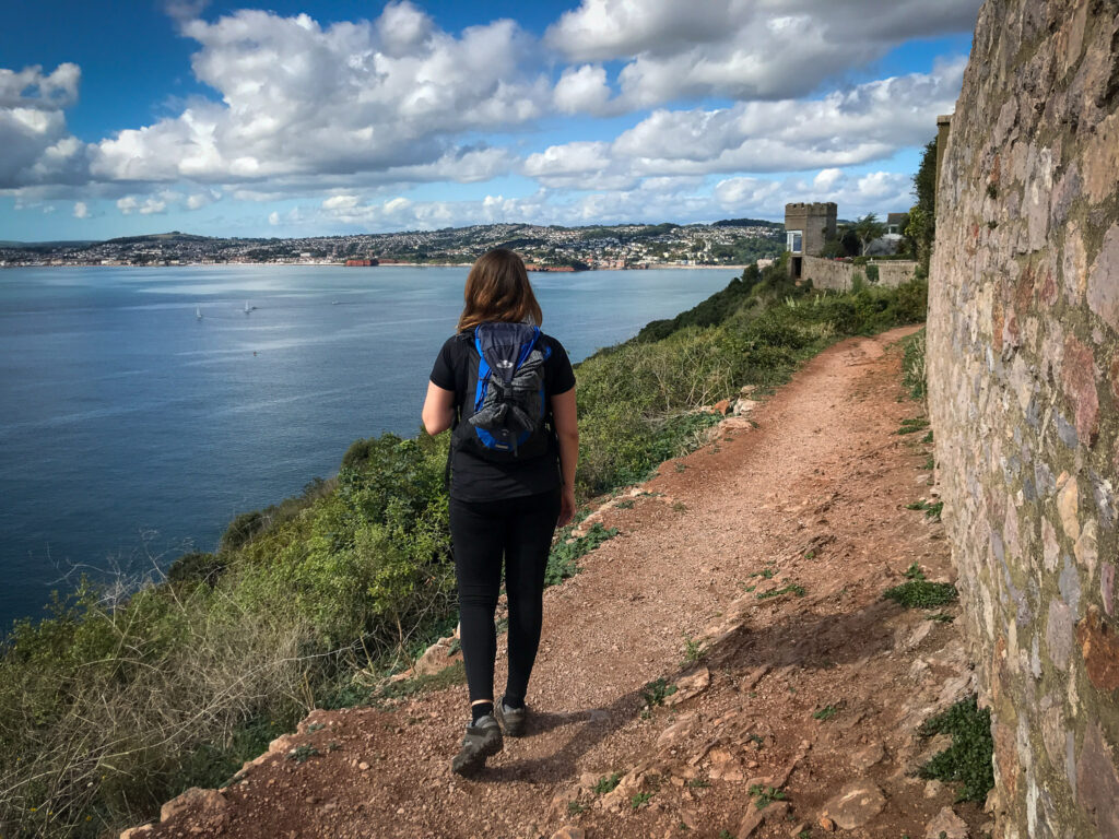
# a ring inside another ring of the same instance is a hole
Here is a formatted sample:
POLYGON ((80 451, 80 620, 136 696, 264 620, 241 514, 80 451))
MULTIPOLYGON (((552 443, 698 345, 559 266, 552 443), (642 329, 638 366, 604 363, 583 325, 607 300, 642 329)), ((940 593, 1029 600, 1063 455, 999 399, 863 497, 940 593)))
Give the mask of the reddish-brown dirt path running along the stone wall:
POLYGON ((602 511, 619 536, 545 595, 529 736, 479 779, 449 771, 458 686, 316 711, 238 783, 138 836, 924 837, 955 795, 910 774, 938 745, 914 729, 970 673, 957 625, 881 597, 913 562, 951 576, 940 526, 905 509, 930 492, 923 432, 896 433, 920 413, 888 349, 906 331, 833 347, 752 423, 728 420, 602 511), (657 679, 680 689, 646 710, 657 679), (290 758, 300 744, 320 754, 290 758))

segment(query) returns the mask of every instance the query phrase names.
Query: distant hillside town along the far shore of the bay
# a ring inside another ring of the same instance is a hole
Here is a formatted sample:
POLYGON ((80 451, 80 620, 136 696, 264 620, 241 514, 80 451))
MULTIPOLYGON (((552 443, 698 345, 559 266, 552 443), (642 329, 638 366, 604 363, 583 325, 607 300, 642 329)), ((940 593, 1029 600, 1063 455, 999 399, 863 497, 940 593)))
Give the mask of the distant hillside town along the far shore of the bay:
POLYGON ((714 224, 554 227, 477 225, 441 230, 216 238, 172 232, 106 242, 0 243, 0 267, 46 265, 460 265, 493 247, 530 270, 587 271, 746 265, 779 255, 784 225, 751 218, 714 224))

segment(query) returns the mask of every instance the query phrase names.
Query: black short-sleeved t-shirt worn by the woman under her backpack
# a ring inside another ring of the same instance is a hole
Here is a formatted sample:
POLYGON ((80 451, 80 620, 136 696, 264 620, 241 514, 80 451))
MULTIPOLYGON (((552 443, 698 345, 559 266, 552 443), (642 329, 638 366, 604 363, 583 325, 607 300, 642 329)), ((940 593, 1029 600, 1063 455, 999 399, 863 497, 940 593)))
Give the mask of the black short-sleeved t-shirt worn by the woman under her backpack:
MULTIPOLYGON (((564 394, 575 386, 567 351, 552 336, 540 332, 542 347, 551 349, 544 361, 544 394, 547 398, 564 394)), ((460 416, 467 393, 469 365, 473 360, 470 347, 473 331, 459 332, 443 343, 431 370, 436 387, 454 392, 454 411, 460 416)), ((460 501, 495 501, 502 498, 534 496, 561 484, 560 453, 555 443, 540 458, 496 463, 482 460, 469 451, 455 450, 451 459, 451 496, 460 501)))

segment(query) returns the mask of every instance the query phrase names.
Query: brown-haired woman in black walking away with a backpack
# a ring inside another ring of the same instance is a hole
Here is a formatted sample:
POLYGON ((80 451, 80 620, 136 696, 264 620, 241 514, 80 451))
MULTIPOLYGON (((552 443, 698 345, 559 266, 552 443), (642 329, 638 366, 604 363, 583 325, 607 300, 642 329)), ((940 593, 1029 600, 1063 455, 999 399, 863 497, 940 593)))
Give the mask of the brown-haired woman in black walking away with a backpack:
POLYGON ((470 723, 451 769, 469 775, 525 733, 552 536, 575 511, 579 428, 567 352, 544 334, 520 257, 498 248, 467 277, 458 331, 435 359, 429 434, 451 428, 450 519, 470 723), (509 602, 509 672, 495 706, 493 612, 509 602), (500 720, 500 723, 499 723, 500 720))

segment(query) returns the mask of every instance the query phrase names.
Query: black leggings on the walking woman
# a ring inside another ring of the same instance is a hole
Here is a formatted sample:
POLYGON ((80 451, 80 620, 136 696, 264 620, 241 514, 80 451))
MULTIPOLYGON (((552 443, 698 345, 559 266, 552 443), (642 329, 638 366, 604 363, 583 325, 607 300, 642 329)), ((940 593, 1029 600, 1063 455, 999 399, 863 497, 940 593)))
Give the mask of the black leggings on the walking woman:
POLYGON ((505 692, 523 699, 528 689, 540 642, 544 569, 560 518, 560 499, 558 488, 500 501, 451 499, 462 658, 471 703, 493 698, 493 611, 501 587, 502 555, 509 597, 509 677, 505 692))

